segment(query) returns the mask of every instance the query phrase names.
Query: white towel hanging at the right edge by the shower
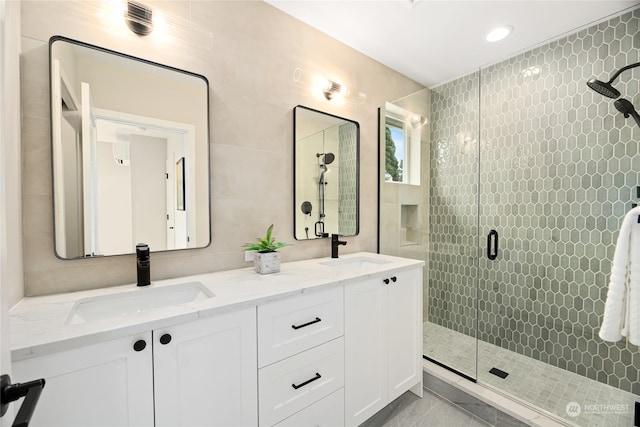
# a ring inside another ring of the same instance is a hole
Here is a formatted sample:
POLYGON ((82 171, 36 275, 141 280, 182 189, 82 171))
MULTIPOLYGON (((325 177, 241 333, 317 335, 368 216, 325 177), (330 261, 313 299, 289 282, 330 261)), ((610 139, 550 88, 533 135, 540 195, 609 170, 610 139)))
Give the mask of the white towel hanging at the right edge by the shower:
POLYGON ((604 307, 600 338, 640 345, 640 206, 631 209, 622 220, 616 250, 611 263, 609 291, 604 307))

